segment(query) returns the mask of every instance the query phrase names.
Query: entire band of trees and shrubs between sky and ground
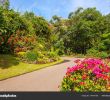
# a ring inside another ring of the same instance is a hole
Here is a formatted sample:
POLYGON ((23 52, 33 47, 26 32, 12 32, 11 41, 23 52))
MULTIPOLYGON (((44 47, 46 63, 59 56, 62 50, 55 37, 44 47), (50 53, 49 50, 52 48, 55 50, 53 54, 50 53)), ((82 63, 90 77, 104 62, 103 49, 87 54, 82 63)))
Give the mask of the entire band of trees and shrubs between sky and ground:
POLYGON ((67 19, 55 15, 47 21, 9 5, 0 1, 0 54, 30 63, 53 62, 62 55, 110 57, 110 14, 80 7, 67 19))

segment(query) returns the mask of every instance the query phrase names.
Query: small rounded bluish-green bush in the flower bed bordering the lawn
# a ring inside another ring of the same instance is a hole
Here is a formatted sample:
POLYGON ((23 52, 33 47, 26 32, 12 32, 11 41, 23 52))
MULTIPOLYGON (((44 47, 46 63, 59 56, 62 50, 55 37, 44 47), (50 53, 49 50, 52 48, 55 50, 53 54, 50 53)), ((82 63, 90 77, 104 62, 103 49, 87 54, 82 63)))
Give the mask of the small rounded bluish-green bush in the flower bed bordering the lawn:
POLYGON ((37 61, 37 59, 38 59, 38 54, 35 53, 35 52, 32 52, 32 51, 28 51, 28 52, 26 52, 26 54, 25 54, 25 59, 26 59, 28 62, 37 61))

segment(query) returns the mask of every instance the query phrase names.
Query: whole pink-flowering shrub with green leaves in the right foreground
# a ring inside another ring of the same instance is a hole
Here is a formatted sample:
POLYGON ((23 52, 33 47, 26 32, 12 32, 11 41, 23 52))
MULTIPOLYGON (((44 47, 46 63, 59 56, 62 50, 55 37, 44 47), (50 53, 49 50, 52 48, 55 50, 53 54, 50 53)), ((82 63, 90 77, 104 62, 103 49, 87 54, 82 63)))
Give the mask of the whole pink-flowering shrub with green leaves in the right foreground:
POLYGON ((68 68, 61 84, 61 91, 106 92, 110 88, 109 62, 101 59, 76 60, 68 68))

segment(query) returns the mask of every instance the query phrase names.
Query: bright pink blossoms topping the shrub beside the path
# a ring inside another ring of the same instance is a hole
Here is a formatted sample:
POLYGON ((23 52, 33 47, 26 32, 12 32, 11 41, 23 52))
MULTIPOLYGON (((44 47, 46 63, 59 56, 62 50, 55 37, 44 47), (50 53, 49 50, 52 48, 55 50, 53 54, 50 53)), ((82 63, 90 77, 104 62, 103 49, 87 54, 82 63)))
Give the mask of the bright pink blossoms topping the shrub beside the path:
POLYGON ((78 64, 67 69, 68 75, 78 70, 83 70, 86 72, 91 70, 92 73, 95 74, 97 77, 101 77, 103 73, 110 72, 110 67, 104 64, 104 62, 101 59, 89 58, 89 59, 84 59, 83 61, 77 59, 76 63, 78 64))

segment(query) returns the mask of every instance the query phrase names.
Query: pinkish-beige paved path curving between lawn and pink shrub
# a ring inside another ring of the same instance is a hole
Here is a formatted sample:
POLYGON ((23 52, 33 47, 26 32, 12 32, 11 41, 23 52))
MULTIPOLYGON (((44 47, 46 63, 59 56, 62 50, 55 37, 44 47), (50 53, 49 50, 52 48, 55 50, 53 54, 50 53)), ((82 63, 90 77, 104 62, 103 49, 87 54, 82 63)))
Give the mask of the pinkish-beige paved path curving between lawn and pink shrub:
POLYGON ((67 67, 72 66, 76 58, 63 59, 63 63, 0 81, 0 91, 59 91, 67 67))

